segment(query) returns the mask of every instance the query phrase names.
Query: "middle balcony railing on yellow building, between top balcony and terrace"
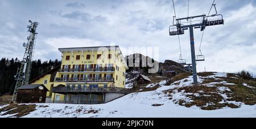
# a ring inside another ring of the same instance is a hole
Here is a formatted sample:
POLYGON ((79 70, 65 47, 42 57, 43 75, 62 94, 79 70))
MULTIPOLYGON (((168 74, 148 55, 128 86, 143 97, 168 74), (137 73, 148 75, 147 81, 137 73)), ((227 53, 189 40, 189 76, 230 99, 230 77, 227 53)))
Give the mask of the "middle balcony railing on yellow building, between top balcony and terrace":
POLYGON ((101 81, 114 81, 114 78, 55 78, 56 82, 101 82, 101 81))

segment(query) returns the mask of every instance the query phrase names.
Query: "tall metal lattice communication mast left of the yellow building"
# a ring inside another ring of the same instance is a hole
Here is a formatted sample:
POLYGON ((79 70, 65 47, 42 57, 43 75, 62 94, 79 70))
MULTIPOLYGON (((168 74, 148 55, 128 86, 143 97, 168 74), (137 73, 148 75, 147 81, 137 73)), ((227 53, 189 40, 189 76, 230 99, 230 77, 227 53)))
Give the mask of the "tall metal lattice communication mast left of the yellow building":
POLYGON ((16 80, 16 85, 13 93, 12 102, 16 101, 16 96, 18 93, 18 88, 22 87, 29 83, 30 80, 30 72, 32 67, 32 58, 34 52, 34 45, 36 41, 36 28, 38 27, 38 22, 28 21, 30 25, 27 25, 28 32, 30 32, 30 36, 27 37, 27 44, 24 42, 23 47, 25 48, 25 53, 22 61, 20 61, 21 66, 18 68, 16 75, 14 76, 16 80))

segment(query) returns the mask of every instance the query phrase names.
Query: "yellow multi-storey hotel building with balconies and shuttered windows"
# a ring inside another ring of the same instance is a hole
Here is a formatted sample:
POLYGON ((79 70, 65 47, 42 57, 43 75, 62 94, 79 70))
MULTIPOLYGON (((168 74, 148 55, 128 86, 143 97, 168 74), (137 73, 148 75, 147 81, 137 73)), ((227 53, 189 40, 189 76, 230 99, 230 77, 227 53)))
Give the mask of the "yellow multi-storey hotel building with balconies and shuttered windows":
POLYGON ((47 102, 100 104, 127 93, 128 66, 119 46, 60 48, 59 51, 62 62, 57 71, 55 68, 31 83, 48 88, 47 102))

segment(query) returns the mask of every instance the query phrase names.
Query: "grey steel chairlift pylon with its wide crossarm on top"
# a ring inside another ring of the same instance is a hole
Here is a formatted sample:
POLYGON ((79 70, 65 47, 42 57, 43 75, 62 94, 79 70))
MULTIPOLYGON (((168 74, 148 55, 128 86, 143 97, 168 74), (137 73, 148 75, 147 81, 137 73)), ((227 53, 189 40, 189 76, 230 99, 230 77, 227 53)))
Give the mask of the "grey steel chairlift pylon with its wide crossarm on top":
MULTIPOLYGON (((215 10, 216 7, 214 6, 215 10)), ((191 16, 187 18, 180 18, 176 19, 176 16, 174 16, 173 20, 173 25, 169 27, 169 34, 170 36, 176 36, 176 35, 184 35, 184 31, 189 29, 189 34, 190 34, 190 44, 191 44, 191 59, 192 59, 192 68, 193 68, 193 83, 195 85, 198 84, 197 82, 197 71, 196 71, 196 54, 195 54, 195 39, 194 39, 194 33, 193 29, 200 28, 201 31, 204 31, 205 27, 212 26, 212 25, 221 25, 224 24, 224 19, 221 14, 216 14, 206 16, 206 15, 198 15, 198 16, 191 16), (219 18, 216 18, 219 17, 219 18), (182 22, 183 20, 192 20, 192 19, 199 19, 195 21, 190 21, 190 24, 184 25, 184 23, 187 22, 182 22), (176 20, 176 22, 175 22, 176 20), (195 24, 192 24, 194 22, 195 24)))

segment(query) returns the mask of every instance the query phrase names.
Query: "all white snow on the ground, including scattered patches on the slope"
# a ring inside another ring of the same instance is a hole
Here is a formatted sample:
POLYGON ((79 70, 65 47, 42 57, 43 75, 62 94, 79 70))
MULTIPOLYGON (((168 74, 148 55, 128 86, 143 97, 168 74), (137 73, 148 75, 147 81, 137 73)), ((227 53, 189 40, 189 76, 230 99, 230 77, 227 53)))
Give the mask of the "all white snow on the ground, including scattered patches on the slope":
MULTIPOLYGON (((224 77, 226 74, 217 73, 210 78, 224 77)), ((199 83, 202 83, 204 78, 199 78, 199 83)), ((192 106, 191 108, 185 108, 175 104, 174 101, 169 100, 163 91, 168 89, 188 87, 192 84, 193 78, 189 76, 186 79, 182 79, 172 83, 171 85, 164 85, 166 81, 160 81, 159 83, 147 85, 147 87, 154 87, 160 85, 155 91, 138 92, 127 94, 126 96, 109 102, 107 104, 100 105, 71 105, 71 104, 37 104, 35 111, 24 116, 25 118, 71 118, 71 117, 100 117, 100 118, 180 118, 180 117, 256 117, 256 105, 249 106, 241 104, 241 108, 231 109, 223 108, 218 110, 201 110, 199 107, 192 106), (162 106, 152 106, 159 104, 162 106), (43 107, 44 106, 44 107, 43 107), (47 107, 45 107, 47 106, 47 107)), ((227 82, 221 82, 227 83, 227 82)), ((216 84, 216 83, 215 83, 216 84)), ((231 84, 230 84, 231 85, 231 84)), ((233 85, 233 84, 232 84, 233 85)), ((214 84, 207 84, 207 87, 213 87, 214 84)), ((228 96, 225 91, 230 91, 227 87, 218 87, 221 96, 225 99, 228 96)), ((203 93, 200 91, 199 93, 203 93)), ((199 94, 194 94, 199 96, 199 94)), ((172 99, 184 99, 189 100, 183 92, 172 93, 172 99)), ((224 102, 224 101, 223 101, 224 102)), ((233 102, 230 102, 233 103, 233 102)), ((210 105, 210 104, 209 104, 210 105)), ((2 114, 2 113, 1 113, 2 114)), ((0 117, 11 117, 1 116, 0 117)))

